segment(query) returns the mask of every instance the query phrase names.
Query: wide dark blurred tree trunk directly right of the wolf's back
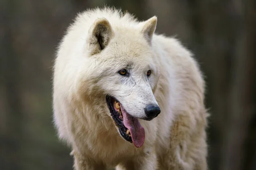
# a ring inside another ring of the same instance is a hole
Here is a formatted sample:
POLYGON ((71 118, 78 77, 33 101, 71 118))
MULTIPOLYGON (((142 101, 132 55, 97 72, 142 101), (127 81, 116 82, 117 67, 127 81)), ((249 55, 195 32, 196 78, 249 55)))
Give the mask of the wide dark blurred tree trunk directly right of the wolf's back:
POLYGON ((207 102, 209 117, 209 167, 218 169, 221 162, 222 142, 227 128, 227 97, 230 80, 230 58, 234 44, 230 4, 222 1, 187 1, 188 16, 192 26, 191 39, 193 49, 198 49, 195 56, 202 64, 207 75, 207 102))

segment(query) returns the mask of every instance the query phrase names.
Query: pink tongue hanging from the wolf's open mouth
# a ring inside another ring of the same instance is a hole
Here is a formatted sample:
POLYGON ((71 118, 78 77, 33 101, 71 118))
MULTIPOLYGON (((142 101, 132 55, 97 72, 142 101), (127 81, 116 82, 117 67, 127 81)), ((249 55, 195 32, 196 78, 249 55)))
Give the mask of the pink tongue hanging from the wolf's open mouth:
POLYGON ((145 130, 144 127, 140 125, 139 119, 132 117, 129 115, 123 108, 122 105, 120 105, 123 119, 124 119, 124 125, 126 128, 130 130, 131 133, 131 139, 133 141, 133 144, 135 147, 141 147, 145 140, 145 130))

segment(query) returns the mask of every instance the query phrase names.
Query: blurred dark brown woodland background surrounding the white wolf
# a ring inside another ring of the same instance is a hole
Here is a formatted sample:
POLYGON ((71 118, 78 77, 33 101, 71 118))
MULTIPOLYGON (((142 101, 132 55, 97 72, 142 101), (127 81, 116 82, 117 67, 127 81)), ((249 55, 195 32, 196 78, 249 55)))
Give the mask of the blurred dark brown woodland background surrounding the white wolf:
POLYGON ((52 124, 55 49, 79 11, 116 6, 195 54, 207 82, 210 170, 256 170, 255 0, 0 0, 0 170, 71 170, 52 124))

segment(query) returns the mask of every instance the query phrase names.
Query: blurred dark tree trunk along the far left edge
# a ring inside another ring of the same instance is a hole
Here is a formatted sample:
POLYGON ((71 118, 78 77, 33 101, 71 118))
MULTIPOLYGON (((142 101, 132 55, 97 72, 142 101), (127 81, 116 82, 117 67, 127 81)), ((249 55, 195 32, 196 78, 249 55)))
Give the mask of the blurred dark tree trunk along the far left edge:
POLYGON ((20 147, 22 139, 22 107, 20 103, 20 69, 19 59, 15 54, 13 47, 13 30, 16 27, 14 23, 15 0, 4 0, 1 2, 5 8, 1 10, 3 34, 1 35, 1 73, 3 81, 1 81, 5 91, 4 99, 6 109, 6 126, 3 127, 1 136, 1 159, 4 168, 9 170, 21 169, 20 147))

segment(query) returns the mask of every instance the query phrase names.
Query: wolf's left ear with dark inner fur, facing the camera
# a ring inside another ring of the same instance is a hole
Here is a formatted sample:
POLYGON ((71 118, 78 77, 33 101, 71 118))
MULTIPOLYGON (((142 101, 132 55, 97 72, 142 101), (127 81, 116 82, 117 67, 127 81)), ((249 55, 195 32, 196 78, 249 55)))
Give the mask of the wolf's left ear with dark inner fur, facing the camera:
POLYGON ((113 30, 106 18, 99 18, 89 29, 88 35, 89 51, 93 55, 101 52, 108 45, 113 37, 113 30))

